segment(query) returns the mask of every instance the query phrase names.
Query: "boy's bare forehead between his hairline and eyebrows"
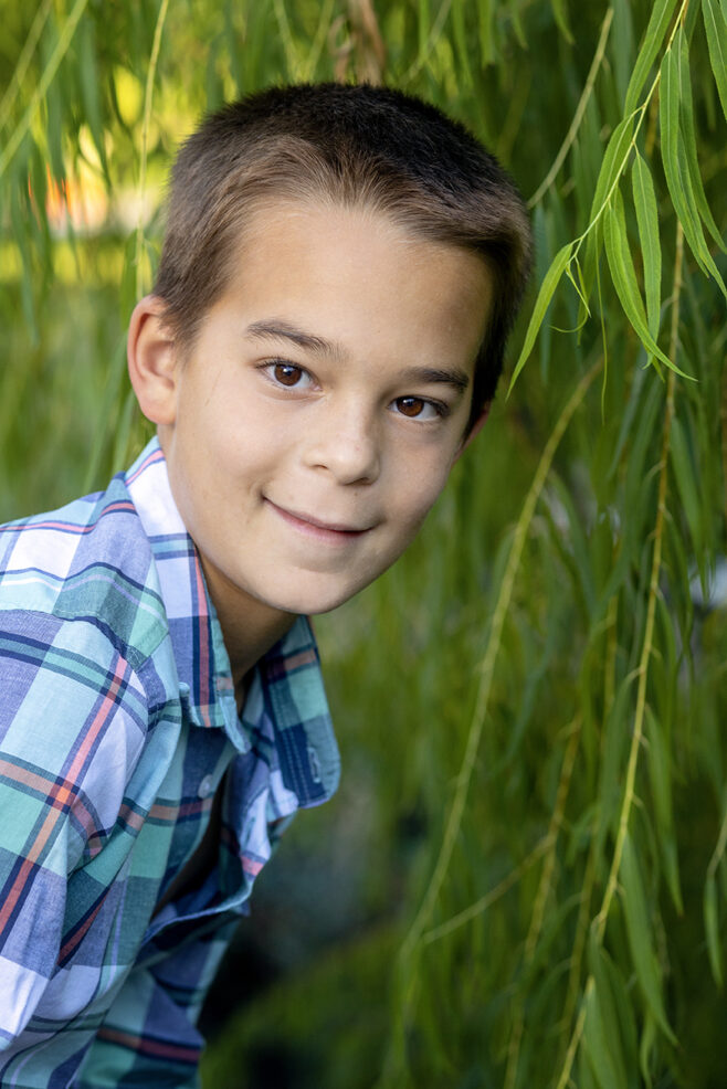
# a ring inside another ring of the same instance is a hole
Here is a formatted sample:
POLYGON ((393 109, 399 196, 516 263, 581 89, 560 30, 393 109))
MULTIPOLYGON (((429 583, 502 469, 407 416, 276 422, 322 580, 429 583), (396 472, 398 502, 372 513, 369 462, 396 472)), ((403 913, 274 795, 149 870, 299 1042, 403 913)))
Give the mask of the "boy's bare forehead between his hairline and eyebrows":
POLYGON ((491 292, 481 256, 378 210, 280 200, 240 232, 213 310, 282 318, 343 343, 382 338, 411 350, 414 338, 424 353, 474 360, 491 292))

